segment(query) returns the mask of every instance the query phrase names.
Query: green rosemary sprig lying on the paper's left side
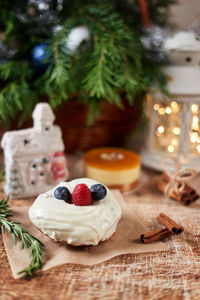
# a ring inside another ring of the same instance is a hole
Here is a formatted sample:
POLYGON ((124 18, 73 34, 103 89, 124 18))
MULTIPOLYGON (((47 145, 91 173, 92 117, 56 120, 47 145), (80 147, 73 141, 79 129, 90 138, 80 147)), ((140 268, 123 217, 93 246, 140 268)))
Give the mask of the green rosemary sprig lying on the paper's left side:
POLYGON ((27 268, 19 272, 19 274, 24 274, 25 277, 31 276, 42 266, 42 243, 29 234, 26 228, 24 228, 20 223, 9 220, 9 217, 12 217, 13 215, 8 204, 8 200, 9 198, 6 200, 2 199, 0 201, 0 227, 2 228, 3 233, 6 231, 11 233, 15 245, 17 240, 20 240, 22 242, 22 249, 31 248, 31 263, 27 268))

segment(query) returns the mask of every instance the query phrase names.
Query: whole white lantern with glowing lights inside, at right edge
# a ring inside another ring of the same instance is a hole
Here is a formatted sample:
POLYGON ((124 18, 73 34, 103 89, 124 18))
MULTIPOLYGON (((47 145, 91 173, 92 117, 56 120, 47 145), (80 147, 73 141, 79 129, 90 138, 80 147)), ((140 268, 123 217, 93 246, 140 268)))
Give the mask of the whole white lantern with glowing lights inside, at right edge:
POLYGON ((194 38, 192 33, 179 33, 169 39, 166 48, 171 65, 163 71, 169 79, 170 97, 160 92, 147 95, 142 161, 156 170, 163 170, 164 161, 174 170, 174 158, 182 167, 200 171, 200 41, 194 38))

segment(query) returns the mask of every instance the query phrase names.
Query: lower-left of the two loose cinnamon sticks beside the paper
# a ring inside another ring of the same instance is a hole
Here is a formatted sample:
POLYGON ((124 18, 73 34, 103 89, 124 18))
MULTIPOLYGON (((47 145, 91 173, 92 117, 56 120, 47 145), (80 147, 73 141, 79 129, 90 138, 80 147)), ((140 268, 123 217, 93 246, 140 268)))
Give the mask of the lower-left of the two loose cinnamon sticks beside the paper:
POLYGON ((158 230, 143 233, 140 236, 140 240, 141 240, 142 243, 148 244, 148 243, 152 243, 152 242, 155 242, 155 241, 162 240, 162 239, 170 237, 172 235, 174 235, 174 233, 171 232, 169 229, 162 228, 162 229, 158 229, 158 230))

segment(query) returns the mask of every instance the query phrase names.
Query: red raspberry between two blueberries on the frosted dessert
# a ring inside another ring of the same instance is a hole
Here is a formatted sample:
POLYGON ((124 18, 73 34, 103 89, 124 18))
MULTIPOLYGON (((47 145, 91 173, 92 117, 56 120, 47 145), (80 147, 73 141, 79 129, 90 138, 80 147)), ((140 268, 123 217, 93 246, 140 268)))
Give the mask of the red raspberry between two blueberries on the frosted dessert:
POLYGON ((72 203, 78 206, 86 206, 92 204, 90 189, 86 184, 77 184, 72 193, 72 203))

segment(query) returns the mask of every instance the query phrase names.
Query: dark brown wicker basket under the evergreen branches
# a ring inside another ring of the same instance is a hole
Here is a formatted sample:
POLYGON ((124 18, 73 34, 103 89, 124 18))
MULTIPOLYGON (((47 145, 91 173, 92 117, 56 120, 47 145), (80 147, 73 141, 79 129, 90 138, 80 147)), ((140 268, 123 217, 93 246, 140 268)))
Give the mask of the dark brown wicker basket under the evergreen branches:
POLYGON ((61 126, 67 152, 85 151, 100 146, 120 146, 136 126, 139 106, 124 101, 124 109, 104 101, 92 126, 86 125, 88 106, 76 101, 56 111, 56 124, 61 126))

